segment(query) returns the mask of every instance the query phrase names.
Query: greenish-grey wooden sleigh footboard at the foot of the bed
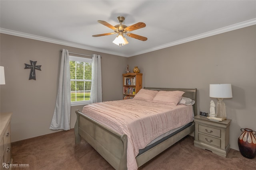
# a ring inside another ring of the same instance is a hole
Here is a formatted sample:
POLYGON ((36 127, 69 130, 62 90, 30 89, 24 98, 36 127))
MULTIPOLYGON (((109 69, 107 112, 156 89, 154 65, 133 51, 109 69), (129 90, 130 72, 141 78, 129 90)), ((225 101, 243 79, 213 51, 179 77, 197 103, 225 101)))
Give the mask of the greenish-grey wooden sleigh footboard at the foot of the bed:
POLYGON ((78 110, 76 115, 76 144, 80 143, 82 137, 116 170, 127 169, 127 135, 100 125, 78 110))

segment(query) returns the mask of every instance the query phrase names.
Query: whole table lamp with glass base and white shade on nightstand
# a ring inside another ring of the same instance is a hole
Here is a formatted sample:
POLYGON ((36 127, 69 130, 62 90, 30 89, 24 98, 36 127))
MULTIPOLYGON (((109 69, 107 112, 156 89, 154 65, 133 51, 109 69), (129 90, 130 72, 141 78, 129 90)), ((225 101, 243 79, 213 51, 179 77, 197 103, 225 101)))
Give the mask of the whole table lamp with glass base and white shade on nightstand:
POLYGON ((216 117, 226 120, 226 105, 223 102, 223 98, 233 97, 231 84, 210 84, 210 97, 218 98, 216 117))

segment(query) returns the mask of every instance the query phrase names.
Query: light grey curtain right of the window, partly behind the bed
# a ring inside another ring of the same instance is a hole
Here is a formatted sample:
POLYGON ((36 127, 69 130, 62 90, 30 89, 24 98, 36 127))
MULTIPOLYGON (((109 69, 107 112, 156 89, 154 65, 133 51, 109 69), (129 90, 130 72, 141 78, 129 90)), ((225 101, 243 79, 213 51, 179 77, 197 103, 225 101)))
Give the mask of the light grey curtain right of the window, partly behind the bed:
POLYGON ((90 104, 102 102, 101 57, 92 55, 92 87, 90 104))

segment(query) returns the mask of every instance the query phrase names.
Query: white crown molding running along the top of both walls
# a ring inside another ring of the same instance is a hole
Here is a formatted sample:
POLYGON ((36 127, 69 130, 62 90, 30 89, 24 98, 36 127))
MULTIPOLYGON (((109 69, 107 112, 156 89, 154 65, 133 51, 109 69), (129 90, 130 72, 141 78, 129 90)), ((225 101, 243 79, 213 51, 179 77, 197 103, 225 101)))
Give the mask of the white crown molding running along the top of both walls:
POLYGON ((240 29, 240 28, 243 28, 243 27, 251 26, 251 25, 256 25, 256 18, 254 18, 252 20, 236 23, 236 24, 233 24, 233 25, 229 25, 227 27, 222 27, 220 29, 215 29, 215 30, 212 30, 212 31, 208 31, 206 33, 202 33, 202 34, 199 34, 199 35, 195 35, 195 36, 188 37, 188 38, 185 38, 185 39, 181 39, 181 40, 178 40, 178 41, 174 41, 174 42, 171 42, 171 43, 167 43, 167 44, 164 44, 164 45, 160 45, 160 46, 157 46, 157 47, 153 47, 153 48, 150 48, 150 49, 146 49, 146 50, 143 50, 143 51, 139 51, 138 53, 133 53, 133 54, 130 54, 130 55, 124 55, 124 54, 121 54, 121 53, 115 53, 113 51, 101 50, 101 49, 97 49, 97 48, 94 48, 94 47, 90 47, 90 46, 86 46, 86 45, 82 45, 82 44, 78 44, 78 43, 72 43, 72 42, 67 42, 67 41, 60 41, 60 40, 56 40, 56 39, 41 37, 41 36, 38 36, 38 35, 22 33, 22 32, 13 31, 13 30, 10 30, 10 29, 0 28, 0 33, 14 35, 14 36, 18 36, 18 37, 29 38, 29 39, 35 39, 35 40, 39 40, 39 41, 45 41, 45 42, 48 42, 48 43, 55 43, 55 44, 60 44, 60 45, 66 45, 66 46, 69 46, 69 47, 76 47, 76 48, 86 49, 86 50, 90 50, 90 51, 97 51, 97 52, 100 52, 100 53, 107 53, 107 54, 111 54, 111 55, 118 55, 118 56, 122 56, 122 57, 132 57, 132 56, 135 56, 135 55, 140 55, 140 54, 156 51, 156 50, 159 50, 159 49, 164 49, 164 48, 167 48, 167 47, 172 47, 174 45, 179 45, 179 44, 182 44, 182 43, 187 43, 187 42, 194 41, 194 40, 197 40, 197 39, 202 39, 202 38, 205 38, 205 37, 210 37, 212 35, 217 35, 217 34, 225 33, 225 32, 228 32, 228 31, 233 31, 235 29, 240 29))

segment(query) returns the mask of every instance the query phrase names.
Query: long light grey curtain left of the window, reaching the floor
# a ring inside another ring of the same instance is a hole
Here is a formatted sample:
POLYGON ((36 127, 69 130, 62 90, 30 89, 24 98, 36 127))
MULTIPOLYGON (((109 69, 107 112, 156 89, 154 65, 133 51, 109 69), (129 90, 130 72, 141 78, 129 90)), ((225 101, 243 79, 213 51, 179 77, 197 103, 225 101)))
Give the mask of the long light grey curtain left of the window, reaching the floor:
POLYGON ((70 130, 70 66, 68 50, 62 50, 58 94, 50 129, 70 130))

